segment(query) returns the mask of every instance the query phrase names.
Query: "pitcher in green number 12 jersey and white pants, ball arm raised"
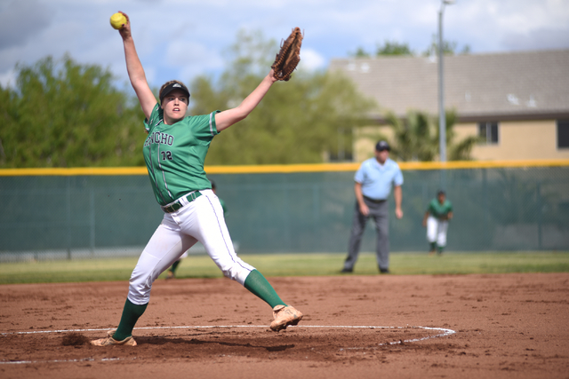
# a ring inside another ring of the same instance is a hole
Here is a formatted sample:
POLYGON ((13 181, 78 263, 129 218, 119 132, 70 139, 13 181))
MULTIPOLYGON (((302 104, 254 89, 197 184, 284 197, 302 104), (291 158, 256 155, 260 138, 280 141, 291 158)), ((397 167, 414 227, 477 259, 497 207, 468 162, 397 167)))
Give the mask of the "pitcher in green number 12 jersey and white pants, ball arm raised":
POLYGON ((202 242, 225 276, 271 306, 272 330, 298 324, 302 313, 285 304, 260 272, 236 256, 220 201, 204 172, 205 154, 212 138, 252 112, 276 82, 273 70, 238 107, 186 116, 189 92, 183 83, 164 83, 159 92, 160 101, 154 97, 134 47, 130 20, 124 16, 126 23, 119 33, 123 38, 129 79, 146 116, 144 125, 148 138, 143 148, 144 159, 156 201, 164 210, 164 219, 132 271, 118 328, 106 338, 91 343, 135 346, 132 329, 146 310, 152 283, 197 241, 202 242))

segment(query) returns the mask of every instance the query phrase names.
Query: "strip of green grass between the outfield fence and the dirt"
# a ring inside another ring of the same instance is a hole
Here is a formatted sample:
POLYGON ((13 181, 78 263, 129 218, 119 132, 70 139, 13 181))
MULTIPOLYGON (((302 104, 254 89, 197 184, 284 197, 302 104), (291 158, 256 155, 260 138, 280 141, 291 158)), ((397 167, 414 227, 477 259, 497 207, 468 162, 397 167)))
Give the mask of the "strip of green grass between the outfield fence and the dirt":
MULTIPOLYGON (((263 275, 338 275, 344 254, 242 255, 263 275)), ((137 258, 82 259, 0 265, 0 284, 128 280, 137 258)), ((390 269, 395 275, 468 274, 507 272, 569 272, 569 252, 392 253, 390 269)), ((375 256, 362 253, 352 275, 377 274, 375 256)), ((161 278, 164 278, 163 274, 161 278)), ((184 259, 178 278, 220 278, 221 272, 207 256, 184 259)))

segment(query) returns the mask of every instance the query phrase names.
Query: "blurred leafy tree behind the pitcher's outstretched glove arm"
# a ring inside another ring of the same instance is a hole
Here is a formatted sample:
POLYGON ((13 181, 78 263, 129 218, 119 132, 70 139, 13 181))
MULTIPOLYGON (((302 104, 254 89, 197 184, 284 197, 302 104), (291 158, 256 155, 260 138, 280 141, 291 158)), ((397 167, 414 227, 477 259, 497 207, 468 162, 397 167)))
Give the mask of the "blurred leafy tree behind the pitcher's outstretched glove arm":
MULTIPOLYGON (((236 107, 267 75, 276 42, 267 43, 260 34, 237 41, 218 83, 206 76, 192 82, 191 114, 236 107)), ((323 153, 337 154, 338 130, 364 122, 373 107, 338 73, 297 71, 291 81, 273 84, 244 121, 213 139, 206 164, 323 162, 323 153)))

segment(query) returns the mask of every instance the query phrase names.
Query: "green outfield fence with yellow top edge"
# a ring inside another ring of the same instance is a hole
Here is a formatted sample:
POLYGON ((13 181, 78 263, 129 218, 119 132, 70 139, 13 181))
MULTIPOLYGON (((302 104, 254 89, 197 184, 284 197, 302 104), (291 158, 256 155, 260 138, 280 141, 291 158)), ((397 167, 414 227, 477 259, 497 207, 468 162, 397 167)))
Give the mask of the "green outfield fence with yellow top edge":
MULTIPOLYGON (((345 252, 358 166, 206 171, 239 252, 345 252)), ((391 195, 391 251, 428 249, 421 220, 442 186, 454 206, 447 250, 569 250, 567 160, 400 166, 405 216, 391 195)), ((0 196, 0 262, 138 255, 163 216, 145 168, 0 170, 0 196)), ((370 222, 362 251, 374 245, 370 222)))

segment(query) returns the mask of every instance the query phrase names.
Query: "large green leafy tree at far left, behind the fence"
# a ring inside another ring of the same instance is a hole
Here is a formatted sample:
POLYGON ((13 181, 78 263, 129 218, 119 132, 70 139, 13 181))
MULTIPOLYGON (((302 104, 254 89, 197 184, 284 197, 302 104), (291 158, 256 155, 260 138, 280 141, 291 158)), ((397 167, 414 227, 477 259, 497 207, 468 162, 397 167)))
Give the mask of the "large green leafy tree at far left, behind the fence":
POLYGON ((144 164, 144 115, 108 69, 65 56, 16 70, 16 89, 0 86, 0 167, 144 164))

